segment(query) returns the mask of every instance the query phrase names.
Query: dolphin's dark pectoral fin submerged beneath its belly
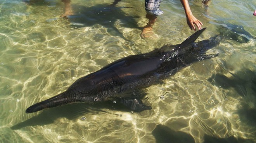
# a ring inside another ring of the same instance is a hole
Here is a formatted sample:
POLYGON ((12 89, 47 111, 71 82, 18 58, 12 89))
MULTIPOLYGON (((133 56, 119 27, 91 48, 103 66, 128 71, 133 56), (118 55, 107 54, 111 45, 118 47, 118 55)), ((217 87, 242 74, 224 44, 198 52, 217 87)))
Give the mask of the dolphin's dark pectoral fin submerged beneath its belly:
POLYGON ((152 109, 152 107, 146 106, 140 99, 136 98, 120 98, 119 101, 126 107, 129 107, 133 111, 137 112, 152 109))

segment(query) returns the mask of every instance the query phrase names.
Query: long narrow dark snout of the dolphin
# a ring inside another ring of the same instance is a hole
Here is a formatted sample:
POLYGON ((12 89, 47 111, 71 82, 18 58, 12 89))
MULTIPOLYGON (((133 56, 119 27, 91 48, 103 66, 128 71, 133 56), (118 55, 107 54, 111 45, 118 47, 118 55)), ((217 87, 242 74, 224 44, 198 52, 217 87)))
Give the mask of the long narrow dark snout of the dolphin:
POLYGON ((69 94, 67 93, 67 91, 65 91, 64 93, 58 94, 52 98, 49 98, 45 101, 42 101, 40 103, 36 103, 32 106, 30 106, 28 109, 26 109, 26 113, 33 113, 36 111, 40 111, 42 109, 45 108, 52 108, 52 107, 56 107, 56 106, 61 106, 61 105, 65 105, 68 103, 73 103, 75 102, 75 99, 73 99, 69 96, 69 94))

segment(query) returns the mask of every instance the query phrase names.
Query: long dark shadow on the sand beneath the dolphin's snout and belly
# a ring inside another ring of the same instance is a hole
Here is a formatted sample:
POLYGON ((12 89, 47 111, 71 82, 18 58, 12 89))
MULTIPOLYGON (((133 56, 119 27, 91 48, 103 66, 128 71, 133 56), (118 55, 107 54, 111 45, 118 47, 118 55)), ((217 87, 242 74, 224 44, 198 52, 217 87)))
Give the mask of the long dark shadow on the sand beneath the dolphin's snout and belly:
POLYGON ((43 126, 45 124, 54 123, 54 121, 58 118, 67 118, 69 120, 81 119, 81 117, 85 116, 85 114, 108 114, 103 109, 130 111, 129 109, 124 108, 123 105, 114 104, 112 102, 102 102, 100 104, 73 103, 45 109, 42 111, 42 113, 10 128, 12 130, 19 130, 26 126, 43 126))

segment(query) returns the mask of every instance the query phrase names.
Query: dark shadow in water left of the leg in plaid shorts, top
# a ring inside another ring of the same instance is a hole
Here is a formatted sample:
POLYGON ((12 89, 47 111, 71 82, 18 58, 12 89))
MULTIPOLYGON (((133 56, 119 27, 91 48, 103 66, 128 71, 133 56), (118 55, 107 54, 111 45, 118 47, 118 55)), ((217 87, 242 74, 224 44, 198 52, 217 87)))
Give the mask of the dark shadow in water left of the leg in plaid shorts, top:
POLYGON ((131 16, 123 12, 123 9, 133 7, 116 7, 107 4, 98 4, 92 7, 72 5, 72 8, 74 14, 67 16, 67 19, 71 22, 70 26, 75 29, 92 27, 95 24, 99 24, 101 27, 106 27, 109 34, 124 38, 117 27, 141 30, 143 28, 137 25, 136 19, 139 18, 138 16, 131 16), (116 24, 117 21, 119 21, 120 25, 116 24))

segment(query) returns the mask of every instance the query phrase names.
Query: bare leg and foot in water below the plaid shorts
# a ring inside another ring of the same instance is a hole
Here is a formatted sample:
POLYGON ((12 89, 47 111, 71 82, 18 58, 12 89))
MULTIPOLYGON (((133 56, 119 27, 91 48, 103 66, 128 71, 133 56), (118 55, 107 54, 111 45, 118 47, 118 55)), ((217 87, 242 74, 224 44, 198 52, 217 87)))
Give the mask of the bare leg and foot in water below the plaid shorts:
POLYGON ((152 30, 152 25, 154 25, 156 19, 157 19, 157 15, 154 15, 154 14, 150 14, 150 13, 147 13, 146 14, 146 17, 147 19, 149 19, 149 22, 147 24, 147 26, 145 26, 143 29, 142 29, 142 32, 140 34, 140 36, 142 38, 145 38, 145 37, 150 37, 150 35, 153 34, 152 30))

